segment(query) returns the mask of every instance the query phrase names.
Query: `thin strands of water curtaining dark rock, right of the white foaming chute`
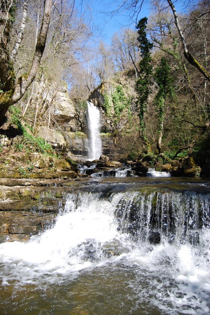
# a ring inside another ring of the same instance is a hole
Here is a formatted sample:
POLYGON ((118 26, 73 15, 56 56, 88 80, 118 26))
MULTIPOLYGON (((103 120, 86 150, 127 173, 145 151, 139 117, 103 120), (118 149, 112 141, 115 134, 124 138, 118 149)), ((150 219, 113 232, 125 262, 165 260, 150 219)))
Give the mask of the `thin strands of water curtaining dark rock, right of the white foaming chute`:
POLYGON ((199 230, 210 227, 210 197, 195 192, 129 192, 116 210, 119 230, 138 241, 199 243, 199 230))

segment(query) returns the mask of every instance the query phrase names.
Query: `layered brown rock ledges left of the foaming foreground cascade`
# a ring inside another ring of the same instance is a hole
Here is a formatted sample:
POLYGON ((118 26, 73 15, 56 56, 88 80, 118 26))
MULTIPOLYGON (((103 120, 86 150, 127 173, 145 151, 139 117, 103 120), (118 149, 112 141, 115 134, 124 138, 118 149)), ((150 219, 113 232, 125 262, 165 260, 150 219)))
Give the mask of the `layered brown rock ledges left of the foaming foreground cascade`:
POLYGON ((0 179, 0 243, 26 241, 54 225, 66 204, 62 185, 68 184, 72 185, 60 180, 0 179))

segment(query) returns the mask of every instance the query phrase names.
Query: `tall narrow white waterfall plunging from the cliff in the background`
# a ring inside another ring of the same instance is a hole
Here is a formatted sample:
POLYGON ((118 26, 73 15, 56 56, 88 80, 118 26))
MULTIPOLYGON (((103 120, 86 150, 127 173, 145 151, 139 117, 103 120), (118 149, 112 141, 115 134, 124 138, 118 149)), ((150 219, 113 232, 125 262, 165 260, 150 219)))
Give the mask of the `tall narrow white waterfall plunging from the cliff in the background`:
POLYGON ((100 112, 88 101, 88 128, 89 128, 89 160, 98 159, 102 153, 100 139, 100 112))

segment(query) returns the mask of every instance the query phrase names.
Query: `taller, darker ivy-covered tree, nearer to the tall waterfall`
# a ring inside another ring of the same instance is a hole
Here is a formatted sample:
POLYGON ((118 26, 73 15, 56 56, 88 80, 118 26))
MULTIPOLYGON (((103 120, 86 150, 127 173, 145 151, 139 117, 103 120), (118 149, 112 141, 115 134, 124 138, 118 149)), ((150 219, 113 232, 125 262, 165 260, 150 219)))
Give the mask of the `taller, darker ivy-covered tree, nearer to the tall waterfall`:
POLYGON ((147 112, 148 97, 151 92, 152 84, 152 58, 151 49, 153 44, 147 38, 146 34, 147 18, 139 20, 137 25, 139 48, 141 51, 141 61, 139 62, 139 78, 136 80, 137 92, 137 110, 139 116, 140 137, 143 140, 143 146, 146 151, 151 151, 150 144, 146 135, 145 113, 147 112))

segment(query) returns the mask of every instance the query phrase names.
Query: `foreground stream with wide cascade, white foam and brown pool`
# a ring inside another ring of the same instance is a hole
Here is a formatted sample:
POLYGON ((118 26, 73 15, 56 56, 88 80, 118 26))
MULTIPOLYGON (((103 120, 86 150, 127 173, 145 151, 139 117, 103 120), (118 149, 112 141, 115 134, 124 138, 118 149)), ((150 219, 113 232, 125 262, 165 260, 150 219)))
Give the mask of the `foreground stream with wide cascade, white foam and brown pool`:
POLYGON ((0 314, 209 314, 210 181, 82 183, 50 229, 0 244, 0 314))

